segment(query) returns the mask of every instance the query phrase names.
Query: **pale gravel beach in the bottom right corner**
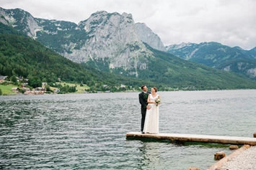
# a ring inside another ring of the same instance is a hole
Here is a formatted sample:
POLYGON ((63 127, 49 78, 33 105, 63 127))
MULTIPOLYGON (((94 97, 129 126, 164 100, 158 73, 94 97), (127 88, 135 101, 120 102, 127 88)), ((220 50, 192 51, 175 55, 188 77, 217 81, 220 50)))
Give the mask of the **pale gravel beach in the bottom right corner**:
POLYGON ((256 170, 256 146, 252 146, 221 166, 229 170, 256 170))

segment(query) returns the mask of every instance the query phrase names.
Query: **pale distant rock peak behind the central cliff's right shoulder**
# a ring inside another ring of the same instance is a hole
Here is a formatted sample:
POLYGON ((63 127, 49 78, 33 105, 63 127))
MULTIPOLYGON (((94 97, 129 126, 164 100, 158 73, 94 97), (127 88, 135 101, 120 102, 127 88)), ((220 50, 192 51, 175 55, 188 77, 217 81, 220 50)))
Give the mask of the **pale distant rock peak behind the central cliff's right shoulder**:
POLYGON ((146 26, 144 23, 136 23, 136 34, 141 39, 142 42, 149 44, 150 47, 157 49, 159 51, 166 52, 164 44, 162 43, 160 37, 154 34, 152 30, 146 26))

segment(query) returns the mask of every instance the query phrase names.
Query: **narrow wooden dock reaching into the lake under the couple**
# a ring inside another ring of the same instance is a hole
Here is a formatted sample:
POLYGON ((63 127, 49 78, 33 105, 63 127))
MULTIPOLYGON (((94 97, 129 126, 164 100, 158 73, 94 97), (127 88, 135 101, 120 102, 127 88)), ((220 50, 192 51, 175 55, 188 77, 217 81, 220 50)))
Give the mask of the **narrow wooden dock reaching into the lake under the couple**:
POLYGON ((222 143, 235 145, 256 146, 256 138, 244 138, 234 136, 208 136, 193 134, 175 134, 175 133, 158 133, 142 134, 140 132, 126 133, 126 138, 155 138, 159 140, 182 141, 182 142, 203 142, 203 143, 222 143))

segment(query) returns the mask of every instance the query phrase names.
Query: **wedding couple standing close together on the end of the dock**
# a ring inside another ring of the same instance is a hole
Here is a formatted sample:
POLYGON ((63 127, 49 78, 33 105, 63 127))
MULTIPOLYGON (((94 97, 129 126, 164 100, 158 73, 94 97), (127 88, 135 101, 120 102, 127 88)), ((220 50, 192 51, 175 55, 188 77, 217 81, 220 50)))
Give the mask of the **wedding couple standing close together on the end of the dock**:
POLYGON ((148 92, 146 85, 141 85, 142 92, 138 95, 141 103, 141 133, 159 133, 159 107, 160 96, 157 88, 148 92))

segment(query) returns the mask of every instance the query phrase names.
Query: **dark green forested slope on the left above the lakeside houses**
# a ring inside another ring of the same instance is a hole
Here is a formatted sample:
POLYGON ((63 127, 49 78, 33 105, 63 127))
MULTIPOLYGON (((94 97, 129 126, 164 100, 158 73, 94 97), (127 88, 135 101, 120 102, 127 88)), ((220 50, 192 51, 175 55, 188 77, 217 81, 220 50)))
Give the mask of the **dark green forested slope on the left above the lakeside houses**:
POLYGON ((84 82, 90 87, 97 83, 108 88, 121 84, 137 88, 145 83, 72 62, 30 37, 0 34, 0 47, 0 75, 22 76, 36 80, 40 85, 42 82, 54 83, 58 78, 66 82, 84 82))

